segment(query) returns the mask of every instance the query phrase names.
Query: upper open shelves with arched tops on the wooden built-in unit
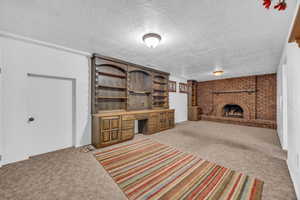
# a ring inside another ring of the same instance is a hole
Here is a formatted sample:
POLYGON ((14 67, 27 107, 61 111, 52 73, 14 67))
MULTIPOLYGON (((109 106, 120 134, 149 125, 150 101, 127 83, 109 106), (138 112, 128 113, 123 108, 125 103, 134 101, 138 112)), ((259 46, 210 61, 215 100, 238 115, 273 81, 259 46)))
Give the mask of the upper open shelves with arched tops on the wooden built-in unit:
POLYGON ((93 113, 168 108, 168 73, 98 55, 92 64, 93 113))

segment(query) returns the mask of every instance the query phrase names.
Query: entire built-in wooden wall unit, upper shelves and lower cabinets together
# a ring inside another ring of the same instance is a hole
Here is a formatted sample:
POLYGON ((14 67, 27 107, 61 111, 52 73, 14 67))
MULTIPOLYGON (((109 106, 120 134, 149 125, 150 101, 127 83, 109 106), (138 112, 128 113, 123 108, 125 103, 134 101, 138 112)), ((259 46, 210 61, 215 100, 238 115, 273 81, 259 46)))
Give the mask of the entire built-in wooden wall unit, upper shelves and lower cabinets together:
POLYGON ((91 86, 92 143, 104 147, 174 127, 169 109, 169 73, 94 54, 91 86))

